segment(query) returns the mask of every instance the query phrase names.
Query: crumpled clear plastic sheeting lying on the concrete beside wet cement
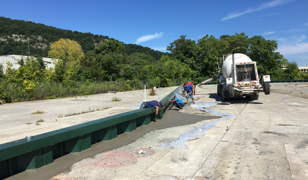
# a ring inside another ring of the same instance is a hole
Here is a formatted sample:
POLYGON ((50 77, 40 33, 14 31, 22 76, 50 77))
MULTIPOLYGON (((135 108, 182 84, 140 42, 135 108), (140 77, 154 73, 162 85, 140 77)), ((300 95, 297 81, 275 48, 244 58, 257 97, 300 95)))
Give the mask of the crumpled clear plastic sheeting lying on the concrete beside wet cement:
MULTIPOLYGON (((176 97, 184 98, 183 96, 180 96, 178 94, 175 94, 176 97)), ((180 99, 182 99, 180 98, 180 99)), ((199 126, 196 126, 186 132, 185 134, 180 135, 179 139, 176 141, 170 142, 170 143, 165 143, 165 144, 159 144, 159 147, 163 148, 180 148, 180 149, 188 149, 188 144, 185 143, 186 141, 192 140, 192 139, 198 139, 201 138, 202 136, 205 135, 206 131, 214 127, 217 123, 223 122, 227 119, 233 118, 233 114, 229 113, 221 113, 217 112, 213 109, 208 109, 210 107, 216 106, 217 102, 216 101, 204 101, 202 102, 203 104, 192 104, 190 107, 191 108, 196 108, 197 110, 204 111, 207 113, 215 114, 215 115, 220 115, 220 116, 225 116, 222 117, 216 121, 210 122, 210 123, 205 123, 199 126)))

